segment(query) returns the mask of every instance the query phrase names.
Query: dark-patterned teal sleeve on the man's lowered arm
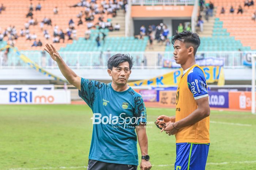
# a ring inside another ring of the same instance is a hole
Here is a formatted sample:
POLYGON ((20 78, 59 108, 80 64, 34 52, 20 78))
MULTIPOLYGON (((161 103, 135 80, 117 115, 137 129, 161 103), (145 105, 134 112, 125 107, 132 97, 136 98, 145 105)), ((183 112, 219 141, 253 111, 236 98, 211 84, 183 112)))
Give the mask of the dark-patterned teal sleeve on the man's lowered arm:
POLYGON ((144 101, 140 95, 135 96, 134 98, 134 116, 139 117, 138 125, 140 122, 145 123, 147 122, 147 113, 144 101))

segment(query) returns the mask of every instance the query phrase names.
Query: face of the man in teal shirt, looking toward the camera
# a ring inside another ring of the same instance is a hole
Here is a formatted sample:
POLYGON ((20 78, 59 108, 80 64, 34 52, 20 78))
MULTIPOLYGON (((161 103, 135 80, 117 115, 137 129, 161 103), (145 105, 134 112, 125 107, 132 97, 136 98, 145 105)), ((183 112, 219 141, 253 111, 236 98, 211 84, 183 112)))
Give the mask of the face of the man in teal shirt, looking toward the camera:
POLYGON ((112 77, 112 82, 121 86, 127 84, 131 72, 127 61, 120 63, 117 67, 113 67, 112 70, 108 69, 108 73, 112 77))

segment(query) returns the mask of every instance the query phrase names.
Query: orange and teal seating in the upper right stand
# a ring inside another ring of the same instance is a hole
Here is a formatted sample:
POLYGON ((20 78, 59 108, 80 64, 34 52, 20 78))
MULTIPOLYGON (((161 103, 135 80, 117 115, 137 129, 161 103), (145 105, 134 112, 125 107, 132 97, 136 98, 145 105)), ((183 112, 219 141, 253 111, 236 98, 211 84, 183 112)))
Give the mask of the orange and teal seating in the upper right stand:
MULTIPOLYGON (((206 0, 206 3, 209 2, 210 0, 206 0)), ((212 2, 216 7, 216 18, 212 35, 226 36, 229 34, 230 37, 234 37, 238 45, 234 50, 255 50, 256 42, 254 36, 256 33, 253 30, 256 27, 256 22, 252 20, 252 15, 256 11, 255 5, 251 5, 250 7, 244 6, 244 0, 212 0, 212 2), (241 5, 243 9, 242 14, 237 14, 239 5, 241 5), (233 13, 229 11, 231 6, 234 7, 233 13), (221 14, 222 7, 225 9, 224 14, 221 14), (240 46, 239 42, 241 42, 243 47, 240 46), (251 48, 249 48, 249 46, 251 48)), ((231 42, 229 42, 229 44, 231 44, 231 42)))

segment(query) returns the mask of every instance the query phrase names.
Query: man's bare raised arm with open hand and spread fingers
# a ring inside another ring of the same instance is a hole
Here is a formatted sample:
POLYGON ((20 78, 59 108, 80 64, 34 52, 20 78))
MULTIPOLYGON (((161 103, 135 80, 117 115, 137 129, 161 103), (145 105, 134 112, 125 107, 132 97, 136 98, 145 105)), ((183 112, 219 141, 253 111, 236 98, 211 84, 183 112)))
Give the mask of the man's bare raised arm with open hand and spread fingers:
POLYGON ((81 90, 81 77, 76 75, 74 71, 72 71, 67 64, 63 61, 63 59, 60 57, 60 54, 57 52, 57 50, 54 48, 52 44, 46 44, 45 51, 50 54, 52 59, 57 62, 61 73, 63 76, 68 80, 70 84, 81 90))

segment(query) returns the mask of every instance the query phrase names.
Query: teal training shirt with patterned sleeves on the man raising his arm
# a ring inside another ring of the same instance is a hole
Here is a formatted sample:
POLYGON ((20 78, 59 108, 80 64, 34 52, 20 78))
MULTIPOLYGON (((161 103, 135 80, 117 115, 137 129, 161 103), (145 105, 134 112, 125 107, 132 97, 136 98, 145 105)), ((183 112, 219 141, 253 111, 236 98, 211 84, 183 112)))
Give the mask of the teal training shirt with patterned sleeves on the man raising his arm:
POLYGON ((115 91, 111 83, 81 79, 79 96, 93 110, 89 159, 138 165, 135 126, 146 122, 142 97, 131 87, 115 91))

